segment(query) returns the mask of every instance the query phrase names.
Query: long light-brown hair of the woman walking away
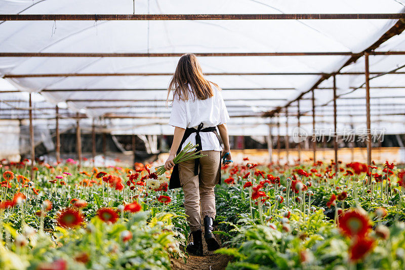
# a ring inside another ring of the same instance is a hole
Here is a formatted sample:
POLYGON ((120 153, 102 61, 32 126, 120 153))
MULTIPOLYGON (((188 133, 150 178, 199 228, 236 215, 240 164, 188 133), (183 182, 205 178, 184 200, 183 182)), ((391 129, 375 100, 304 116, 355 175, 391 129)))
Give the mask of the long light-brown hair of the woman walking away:
POLYGON ((213 85, 220 89, 217 84, 204 78, 201 66, 194 54, 184 54, 180 57, 176 71, 170 81, 166 104, 169 101, 171 91, 173 91, 173 98, 184 101, 190 98, 190 93, 193 100, 195 98, 203 100, 210 98, 214 96, 213 85), (191 91, 188 85, 190 85, 191 91))

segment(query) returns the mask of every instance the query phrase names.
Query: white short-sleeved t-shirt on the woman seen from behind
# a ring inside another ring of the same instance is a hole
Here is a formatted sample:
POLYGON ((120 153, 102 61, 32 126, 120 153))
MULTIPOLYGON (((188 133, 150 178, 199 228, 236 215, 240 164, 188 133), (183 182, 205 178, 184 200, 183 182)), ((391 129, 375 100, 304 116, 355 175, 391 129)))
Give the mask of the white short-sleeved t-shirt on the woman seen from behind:
MULTIPOLYGON (((192 91, 191 88, 190 91, 192 91)), ((213 86, 213 92, 214 96, 205 100, 195 98, 193 101, 192 93, 186 101, 174 98, 169 125, 185 129, 197 128, 200 123, 203 123, 204 129, 225 124, 229 120, 229 114, 222 93, 215 86, 213 86)), ((199 134, 203 151, 222 150, 218 138, 213 132, 200 132, 199 134)), ((195 145, 195 135, 196 133, 192 133, 184 141, 181 149, 189 142, 195 145)))

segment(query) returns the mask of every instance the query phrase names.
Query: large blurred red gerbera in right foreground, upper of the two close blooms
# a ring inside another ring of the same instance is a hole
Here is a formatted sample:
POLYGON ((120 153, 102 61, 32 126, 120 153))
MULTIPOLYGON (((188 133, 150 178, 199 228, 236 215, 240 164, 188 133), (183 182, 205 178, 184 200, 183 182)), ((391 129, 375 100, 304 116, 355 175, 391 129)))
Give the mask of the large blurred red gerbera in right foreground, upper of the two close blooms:
POLYGON ((367 214, 356 209, 346 211, 340 215, 339 225, 341 233, 347 237, 365 237, 371 228, 367 214))

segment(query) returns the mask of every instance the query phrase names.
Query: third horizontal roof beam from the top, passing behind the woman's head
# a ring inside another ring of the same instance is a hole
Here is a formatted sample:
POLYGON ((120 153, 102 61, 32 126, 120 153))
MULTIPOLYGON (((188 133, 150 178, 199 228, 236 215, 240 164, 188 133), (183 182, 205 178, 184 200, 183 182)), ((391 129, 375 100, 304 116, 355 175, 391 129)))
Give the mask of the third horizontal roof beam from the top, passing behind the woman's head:
MULTIPOLYGON (((381 72, 370 72, 370 74, 382 74, 381 72)), ((257 76, 257 75, 319 75, 329 76, 330 74, 323 72, 209 72, 204 73, 207 76, 257 76)), ((364 72, 344 72, 335 73, 336 75, 363 75, 364 72)), ((388 74, 405 74, 405 71, 388 72, 388 74)), ((3 78, 44 78, 44 77, 95 77, 95 76, 173 76, 173 73, 38 73, 38 74, 5 74, 3 78)))

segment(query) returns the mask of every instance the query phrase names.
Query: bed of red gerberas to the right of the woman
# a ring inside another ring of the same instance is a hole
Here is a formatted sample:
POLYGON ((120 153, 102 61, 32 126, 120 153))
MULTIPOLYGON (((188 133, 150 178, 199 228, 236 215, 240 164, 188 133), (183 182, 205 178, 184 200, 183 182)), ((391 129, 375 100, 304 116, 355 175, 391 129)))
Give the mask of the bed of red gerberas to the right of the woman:
POLYGON ((405 267, 403 170, 255 167, 224 168, 229 184, 217 189, 227 269, 405 267))

